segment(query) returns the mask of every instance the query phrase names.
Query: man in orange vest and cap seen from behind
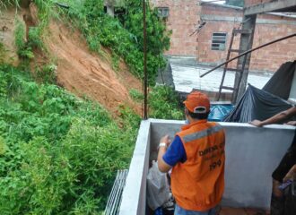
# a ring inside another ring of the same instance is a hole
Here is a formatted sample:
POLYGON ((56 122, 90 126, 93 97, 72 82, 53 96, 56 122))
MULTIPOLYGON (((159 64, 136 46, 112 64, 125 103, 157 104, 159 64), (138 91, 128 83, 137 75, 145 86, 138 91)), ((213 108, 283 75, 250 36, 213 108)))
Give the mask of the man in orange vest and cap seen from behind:
POLYGON ((224 191, 225 134, 222 126, 207 122, 210 101, 193 91, 184 101, 188 125, 161 138, 158 167, 171 172, 175 215, 213 215, 224 191))

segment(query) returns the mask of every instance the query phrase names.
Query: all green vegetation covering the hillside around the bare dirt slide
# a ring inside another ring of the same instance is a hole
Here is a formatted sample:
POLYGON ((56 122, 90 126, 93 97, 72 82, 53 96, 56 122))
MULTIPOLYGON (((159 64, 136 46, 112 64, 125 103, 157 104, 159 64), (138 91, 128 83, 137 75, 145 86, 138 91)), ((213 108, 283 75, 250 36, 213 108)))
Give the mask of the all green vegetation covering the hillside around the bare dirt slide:
MULTIPOLYGON (((15 45, 22 70, 0 62, 0 211, 1 214, 100 214, 105 208, 116 171, 128 168, 140 117, 127 107, 114 119, 100 104, 78 99, 54 85, 57 66, 53 59, 35 68, 29 62, 39 49, 47 55, 42 39, 52 16, 65 14, 77 24, 93 52, 100 46, 112 51, 111 64, 120 57, 132 73, 143 77, 143 13, 138 0, 124 1, 125 15, 104 13, 103 0, 65 0, 69 10, 52 0, 33 0, 39 8, 39 24, 30 27, 15 20, 15 45), (56 12, 56 13, 55 13, 56 12), (61 13, 62 12, 62 13, 61 13)), ((4 0, 0 7, 18 6, 4 0)), ((152 84, 165 64, 162 52, 169 48, 170 32, 149 5, 147 12, 148 73, 152 84)), ((57 16, 56 16, 57 17, 57 16)), ((0 43, 0 56, 4 45, 0 43)), ((151 88, 150 116, 183 116, 175 92, 166 86, 151 88)), ((135 101, 143 94, 130 90, 135 101)))

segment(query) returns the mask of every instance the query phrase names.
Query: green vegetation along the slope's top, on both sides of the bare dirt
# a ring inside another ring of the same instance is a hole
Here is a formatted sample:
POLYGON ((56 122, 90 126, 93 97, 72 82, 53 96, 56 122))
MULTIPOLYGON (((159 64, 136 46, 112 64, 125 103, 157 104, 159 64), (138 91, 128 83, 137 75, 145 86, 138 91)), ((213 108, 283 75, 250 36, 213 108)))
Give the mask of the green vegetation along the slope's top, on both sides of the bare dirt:
MULTIPOLYGON (((83 32, 91 51, 102 54, 100 46, 112 51, 112 66, 118 70, 119 57, 122 57, 132 73, 138 78, 144 75, 144 38, 142 2, 138 0, 122 1, 126 13, 120 19, 112 18, 104 12, 103 0, 65 0, 69 9, 61 9, 53 0, 33 0, 39 11, 39 25, 30 27, 27 41, 23 22, 16 21, 15 31, 18 54, 27 61, 34 58, 33 50, 45 51, 42 43, 44 30, 51 17, 61 18, 64 13, 69 21, 83 32)), ((5 5, 18 4, 18 0, 6 0, 5 5)), ((165 66, 164 50, 170 47, 170 31, 157 15, 157 10, 147 4, 147 72, 150 84, 154 84, 158 70, 165 66)))

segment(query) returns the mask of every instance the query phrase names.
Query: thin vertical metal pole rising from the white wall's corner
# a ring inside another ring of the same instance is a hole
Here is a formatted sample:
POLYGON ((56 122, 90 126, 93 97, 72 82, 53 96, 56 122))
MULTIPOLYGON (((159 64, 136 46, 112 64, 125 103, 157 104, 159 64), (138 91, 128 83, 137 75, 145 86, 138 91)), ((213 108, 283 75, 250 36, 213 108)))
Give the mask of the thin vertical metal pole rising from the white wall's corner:
POLYGON ((147 114, 147 33, 146 33, 146 3, 143 0, 143 33, 144 33, 144 119, 148 118, 147 114))

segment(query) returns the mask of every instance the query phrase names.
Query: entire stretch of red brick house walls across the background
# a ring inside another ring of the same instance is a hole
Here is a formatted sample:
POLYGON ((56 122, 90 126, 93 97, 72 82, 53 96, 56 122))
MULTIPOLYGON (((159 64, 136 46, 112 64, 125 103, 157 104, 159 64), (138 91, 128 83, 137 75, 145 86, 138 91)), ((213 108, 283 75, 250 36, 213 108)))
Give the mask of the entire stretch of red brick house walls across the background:
MULTIPOLYGON (((268 2, 268 0, 247 0, 246 5, 261 2, 268 2)), ((167 26, 169 30, 172 30, 172 35, 167 55, 196 56, 198 63, 209 65, 217 65, 225 61, 231 30, 241 22, 242 10, 224 8, 214 4, 201 4, 200 0, 152 0, 152 5, 170 8, 167 26), (203 21, 206 24, 202 30, 189 37, 196 26, 203 21), (224 51, 211 50, 212 34, 219 31, 228 32, 224 51)), ((294 32, 296 32, 296 19, 269 14, 257 15, 253 47, 294 32)), ((249 69, 256 72, 275 72, 284 62, 296 59, 295 45, 296 37, 253 52, 249 69)), ((239 36, 234 39, 233 47, 239 47, 239 36)), ((236 55, 236 53, 231 54, 231 56, 236 55)), ((233 61, 230 66, 235 67, 236 64, 237 61, 233 61)))

